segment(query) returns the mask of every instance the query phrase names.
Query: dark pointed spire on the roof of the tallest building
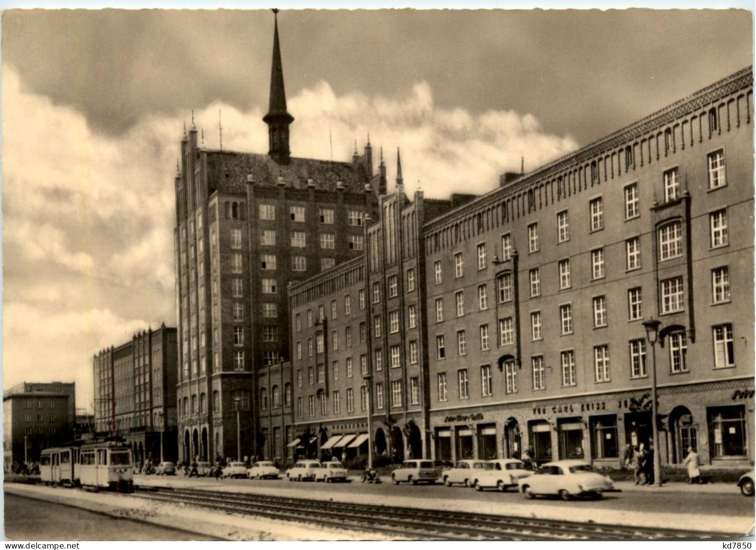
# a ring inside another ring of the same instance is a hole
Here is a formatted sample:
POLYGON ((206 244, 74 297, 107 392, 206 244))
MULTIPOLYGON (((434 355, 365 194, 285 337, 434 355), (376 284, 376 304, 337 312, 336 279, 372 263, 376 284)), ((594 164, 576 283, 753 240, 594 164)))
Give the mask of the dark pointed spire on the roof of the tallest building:
POLYGON ((281 65, 281 52, 278 43, 278 10, 274 9, 273 30, 273 62, 271 64, 271 97, 268 106, 268 114, 262 118, 268 125, 268 154, 279 164, 288 164, 289 151, 289 125, 293 123, 292 117, 286 107, 286 91, 283 89, 283 67, 281 65))

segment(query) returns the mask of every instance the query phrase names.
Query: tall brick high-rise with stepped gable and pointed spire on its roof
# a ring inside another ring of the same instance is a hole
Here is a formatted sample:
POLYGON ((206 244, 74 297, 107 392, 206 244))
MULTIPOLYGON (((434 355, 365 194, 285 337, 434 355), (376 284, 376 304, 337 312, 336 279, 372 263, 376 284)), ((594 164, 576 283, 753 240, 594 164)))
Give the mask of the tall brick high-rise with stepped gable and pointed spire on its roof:
POLYGON ((181 460, 283 455, 292 419, 280 365, 289 356, 288 284, 361 255, 362 220, 386 190, 385 171, 373 174, 369 142, 351 163, 291 156, 293 117, 277 22, 264 120, 268 154, 200 148, 194 123, 181 139, 175 177, 181 460))

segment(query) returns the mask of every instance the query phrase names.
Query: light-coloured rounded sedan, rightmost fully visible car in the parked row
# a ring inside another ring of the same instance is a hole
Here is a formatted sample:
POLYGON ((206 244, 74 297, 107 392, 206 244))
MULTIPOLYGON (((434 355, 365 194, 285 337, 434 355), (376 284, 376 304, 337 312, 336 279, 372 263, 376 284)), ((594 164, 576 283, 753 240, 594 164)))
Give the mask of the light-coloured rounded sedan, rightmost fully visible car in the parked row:
POLYGON ((528 499, 538 495, 559 495, 562 500, 572 496, 600 499, 602 493, 616 490, 609 477, 581 460, 547 462, 535 474, 519 479, 517 485, 528 499))

